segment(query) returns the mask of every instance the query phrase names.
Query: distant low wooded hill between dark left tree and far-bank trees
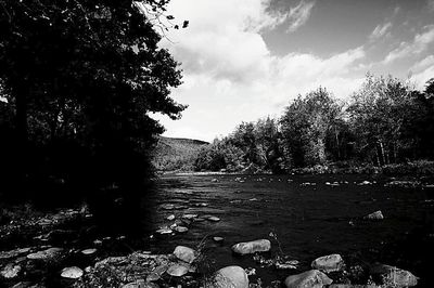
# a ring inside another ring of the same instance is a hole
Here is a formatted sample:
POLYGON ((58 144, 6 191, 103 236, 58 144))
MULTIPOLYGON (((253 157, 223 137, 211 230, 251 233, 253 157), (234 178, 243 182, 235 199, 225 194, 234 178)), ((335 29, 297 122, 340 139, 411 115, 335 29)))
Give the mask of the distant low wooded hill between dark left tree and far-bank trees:
POLYGON ((158 171, 192 171, 199 150, 208 144, 200 140, 161 136, 153 163, 158 171))

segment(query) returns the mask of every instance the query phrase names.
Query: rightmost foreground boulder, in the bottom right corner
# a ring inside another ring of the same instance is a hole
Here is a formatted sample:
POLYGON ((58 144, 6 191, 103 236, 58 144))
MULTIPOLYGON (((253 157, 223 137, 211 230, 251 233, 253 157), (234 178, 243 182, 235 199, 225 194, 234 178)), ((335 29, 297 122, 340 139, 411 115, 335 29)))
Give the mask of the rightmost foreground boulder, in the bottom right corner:
POLYGON ((372 275, 379 275, 385 287, 411 287, 418 284, 418 277, 411 272, 398 267, 375 264, 370 272, 372 275))

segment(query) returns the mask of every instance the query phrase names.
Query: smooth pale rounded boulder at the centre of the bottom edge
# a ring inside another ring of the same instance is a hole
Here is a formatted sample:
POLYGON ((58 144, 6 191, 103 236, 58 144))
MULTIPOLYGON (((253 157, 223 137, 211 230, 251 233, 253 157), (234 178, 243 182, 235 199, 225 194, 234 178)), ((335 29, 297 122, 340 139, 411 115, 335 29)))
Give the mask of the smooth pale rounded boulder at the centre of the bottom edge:
POLYGON ((216 272, 205 288, 248 288, 248 277, 240 266, 227 266, 216 272))

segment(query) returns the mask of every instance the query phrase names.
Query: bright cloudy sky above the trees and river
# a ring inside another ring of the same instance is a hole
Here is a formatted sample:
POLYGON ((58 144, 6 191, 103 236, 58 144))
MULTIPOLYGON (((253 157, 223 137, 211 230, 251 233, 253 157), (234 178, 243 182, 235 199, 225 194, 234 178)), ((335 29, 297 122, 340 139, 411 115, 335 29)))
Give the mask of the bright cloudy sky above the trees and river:
POLYGON ((210 142, 320 86, 345 100, 368 71, 418 89, 434 77, 434 0, 171 0, 167 13, 189 21, 161 43, 189 107, 153 116, 165 136, 210 142))

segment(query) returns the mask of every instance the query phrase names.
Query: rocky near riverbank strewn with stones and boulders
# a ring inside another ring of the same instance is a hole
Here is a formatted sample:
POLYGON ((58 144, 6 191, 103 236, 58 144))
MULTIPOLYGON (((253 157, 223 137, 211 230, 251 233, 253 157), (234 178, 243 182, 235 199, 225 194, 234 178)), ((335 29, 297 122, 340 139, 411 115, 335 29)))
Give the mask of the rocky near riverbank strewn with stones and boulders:
MULTIPOLYGON (((171 210, 176 207, 167 205, 164 209, 171 210)), ((380 213, 381 211, 378 211, 373 214, 380 213)), ((418 283, 418 278, 408 271, 380 263, 347 262, 345 257, 339 253, 314 258, 311 263, 302 263, 281 252, 271 252, 271 243, 277 240, 277 235, 272 233, 269 239, 231 245, 233 254, 252 258, 260 269, 286 274, 285 278, 277 278, 265 286, 260 277, 255 275, 256 270, 253 267, 229 265, 210 270, 207 265, 209 259, 203 250, 209 244, 230 245, 226 244, 222 237, 204 238, 201 245, 194 248, 177 246, 173 253, 168 254, 140 250, 118 256, 111 247, 122 243, 125 237, 93 239, 87 225, 91 218, 87 209, 69 209, 22 221, 13 220, 2 225, 0 243, 3 247, 8 247, 8 244, 13 249, 0 252, 1 284, 15 288, 306 288, 411 287, 418 283), (85 226, 87 228, 80 231, 85 226), (14 241, 20 235, 24 238, 14 241)), ((173 233, 186 233, 189 223, 199 219, 220 221, 213 215, 183 214, 179 219, 168 220, 174 223, 156 231, 154 235, 164 237, 173 233), (170 232, 166 233, 166 230, 170 232)), ((368 219, 371 217, 368 215, 368 219)))

